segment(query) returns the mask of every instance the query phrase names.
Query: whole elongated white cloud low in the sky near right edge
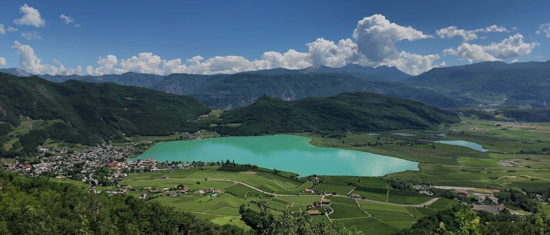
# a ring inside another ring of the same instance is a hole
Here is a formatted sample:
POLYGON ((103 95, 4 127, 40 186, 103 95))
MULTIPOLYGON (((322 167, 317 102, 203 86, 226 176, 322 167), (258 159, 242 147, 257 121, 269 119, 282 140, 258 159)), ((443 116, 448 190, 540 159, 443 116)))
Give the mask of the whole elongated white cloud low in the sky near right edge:
POLYGON ((540 45, 538 42, 525 43, 523 35, 516 34, 502 42, 493 42, 487 46, 464 42, 456 50, 453 48, 443 50, 443 55, 455 55, 460 59, 467 59, 470 63, 472 61, 500 61, 501 59, 525 56, 538 45, 540 45))

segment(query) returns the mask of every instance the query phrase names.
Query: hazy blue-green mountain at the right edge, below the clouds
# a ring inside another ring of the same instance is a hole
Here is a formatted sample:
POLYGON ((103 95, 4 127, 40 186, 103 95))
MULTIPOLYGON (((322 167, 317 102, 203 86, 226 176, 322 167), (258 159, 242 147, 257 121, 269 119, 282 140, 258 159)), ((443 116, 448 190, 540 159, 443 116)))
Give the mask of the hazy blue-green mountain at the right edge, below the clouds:
POLYGON ((477 103, 541 108, 550 102, 550 61, 493 61, 433 68, 403 83, 477 103))

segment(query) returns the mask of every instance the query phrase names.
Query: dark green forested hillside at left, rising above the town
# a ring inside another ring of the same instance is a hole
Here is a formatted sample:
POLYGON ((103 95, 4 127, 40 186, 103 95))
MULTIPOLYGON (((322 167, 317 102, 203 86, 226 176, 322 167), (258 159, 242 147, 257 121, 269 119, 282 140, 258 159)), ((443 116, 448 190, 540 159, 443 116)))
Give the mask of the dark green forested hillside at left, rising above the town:
POLYGON ((195 131, 204 124, 194 120, 209 111, 194 97, 147 88, 76 80, 53 83, 0 73, 0 155, 35 152, 46 139, 95 145, 135 134, 195 131), (20 125, 24 131, 8 136, 20 125), (10 139, 17 141, 4 150, 10 139))

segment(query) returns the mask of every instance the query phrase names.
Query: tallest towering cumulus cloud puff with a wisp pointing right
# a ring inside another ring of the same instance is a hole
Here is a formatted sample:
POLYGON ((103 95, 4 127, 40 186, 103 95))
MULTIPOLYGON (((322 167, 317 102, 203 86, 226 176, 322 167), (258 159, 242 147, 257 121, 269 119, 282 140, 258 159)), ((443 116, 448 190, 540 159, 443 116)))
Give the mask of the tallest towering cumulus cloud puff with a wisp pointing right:
POLYGON ((353 31, 353 38, 357 43, 357 50, 369 61, 381 62, 395 56, 395 42, 402 40, 419 40, 433 37, 411 26, 401 26, 390 23, 383 15, 375 14, 357 22, 353 31))

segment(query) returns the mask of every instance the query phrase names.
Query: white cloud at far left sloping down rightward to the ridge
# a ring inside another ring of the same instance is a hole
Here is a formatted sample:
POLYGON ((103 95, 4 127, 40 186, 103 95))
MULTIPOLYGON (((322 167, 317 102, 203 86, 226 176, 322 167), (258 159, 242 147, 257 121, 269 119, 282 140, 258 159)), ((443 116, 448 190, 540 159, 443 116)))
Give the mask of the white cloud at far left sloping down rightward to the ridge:
POLYGON ((80 65, 76 68, 65 68, 61 62, 58 64, 59 67, 51 64, 42 64, 41 59, 35 55, 32 47, 21 44, 18 41, 13 42, 12 48, 17 49, 17 53, 19 54, 19 64, 21 65, 21 68, 25 69, 27 72, 34 74, 68 75, 80 74, 82 71, 82 67, 80 65))

